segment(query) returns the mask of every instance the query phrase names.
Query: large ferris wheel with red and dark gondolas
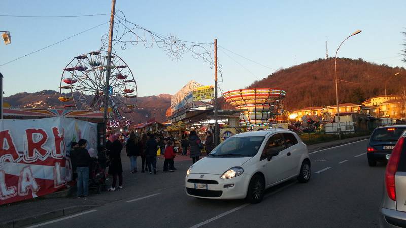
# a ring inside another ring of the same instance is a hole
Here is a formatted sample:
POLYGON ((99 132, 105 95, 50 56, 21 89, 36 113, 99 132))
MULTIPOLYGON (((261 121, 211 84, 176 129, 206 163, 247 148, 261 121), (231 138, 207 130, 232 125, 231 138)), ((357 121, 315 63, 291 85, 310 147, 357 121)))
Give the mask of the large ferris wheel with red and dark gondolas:
MULTIPOLYGON (((107 51, 74 57, 63 69, 59 101, 65 109, 103 111, 105 103, 107 51)), ((137 104, 137 83, 128 65, 111 54, 108 111, 114 120, 130 120, 137 104)))

